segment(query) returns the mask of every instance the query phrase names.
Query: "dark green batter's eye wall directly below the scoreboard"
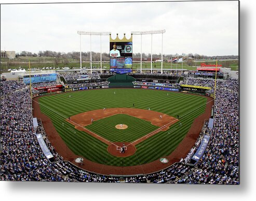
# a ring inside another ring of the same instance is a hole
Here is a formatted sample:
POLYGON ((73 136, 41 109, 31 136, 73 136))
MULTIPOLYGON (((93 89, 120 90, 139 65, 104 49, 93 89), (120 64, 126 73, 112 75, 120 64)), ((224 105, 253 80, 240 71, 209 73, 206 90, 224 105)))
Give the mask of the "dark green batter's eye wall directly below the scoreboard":
POLYGON ((110 88, 132 88, 133 87, 133 81, 136 81, 135 78, 132 78, 132 76, 127 74, 115 74, 108 78, 106 81, 109 81, 109 87, 110 88))

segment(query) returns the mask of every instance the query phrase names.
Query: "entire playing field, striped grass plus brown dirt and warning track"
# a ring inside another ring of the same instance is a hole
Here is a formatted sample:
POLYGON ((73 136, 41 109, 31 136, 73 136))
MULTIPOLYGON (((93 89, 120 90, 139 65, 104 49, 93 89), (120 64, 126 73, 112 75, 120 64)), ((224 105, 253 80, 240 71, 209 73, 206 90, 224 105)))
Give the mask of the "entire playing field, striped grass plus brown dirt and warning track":
POLYGON ((144 89, 84 90, 71 98, 64 93, 34 100, 34 115, 58 153, 71 162, 82 157, 82 168, 105 175, 147 174, 179 161, 213 104, 210 97, 144 89), (120 124, 127 128, 116 129, 120 124), (127 150, 121 153, 117 147, 123 144, 127 150))

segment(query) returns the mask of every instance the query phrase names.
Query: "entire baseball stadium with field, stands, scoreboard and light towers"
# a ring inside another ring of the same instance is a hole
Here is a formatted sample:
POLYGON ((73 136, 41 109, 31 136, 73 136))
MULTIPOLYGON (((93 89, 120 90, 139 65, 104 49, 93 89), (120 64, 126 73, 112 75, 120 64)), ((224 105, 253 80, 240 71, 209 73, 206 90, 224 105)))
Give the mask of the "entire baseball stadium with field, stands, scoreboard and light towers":
POLYGON ((239 82, 218 59, 134 69, 132 37, 165 30, 77 33, 110 36, 109 69, 80 59, 1 80, 1 180, 239 184, 239 82))

